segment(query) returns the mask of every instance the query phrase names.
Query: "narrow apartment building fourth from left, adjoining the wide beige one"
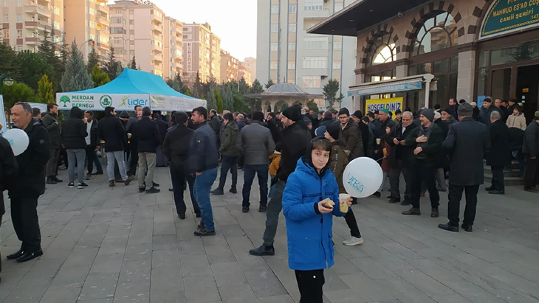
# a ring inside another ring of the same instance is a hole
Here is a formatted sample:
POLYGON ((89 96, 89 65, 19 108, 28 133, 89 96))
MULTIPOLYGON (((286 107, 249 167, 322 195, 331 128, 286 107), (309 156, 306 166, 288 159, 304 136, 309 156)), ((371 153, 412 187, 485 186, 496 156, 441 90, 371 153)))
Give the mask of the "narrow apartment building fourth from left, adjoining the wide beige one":
POLYGON ((163 76, 165 78, 174 78, 176 74, 182 74, 182 36, 183 24, 174 18, 165 17, 163 61, 163 76))

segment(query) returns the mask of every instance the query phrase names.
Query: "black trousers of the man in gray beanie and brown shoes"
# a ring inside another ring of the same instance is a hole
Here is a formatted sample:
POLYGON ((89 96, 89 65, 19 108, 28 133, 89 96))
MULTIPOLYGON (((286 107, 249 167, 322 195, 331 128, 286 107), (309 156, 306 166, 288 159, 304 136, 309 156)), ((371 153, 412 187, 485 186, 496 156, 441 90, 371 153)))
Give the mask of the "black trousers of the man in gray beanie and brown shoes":
POLYGON ((424 160, 416 160, 412 168, 412 207, 419 208, 419 196, 421 194, 421 183, 425 182, 425 186, 429 191, 432 208, 438 208, 440 205, 440 195, 436 189, 436 171, 438 168, 427 165, 424 160))

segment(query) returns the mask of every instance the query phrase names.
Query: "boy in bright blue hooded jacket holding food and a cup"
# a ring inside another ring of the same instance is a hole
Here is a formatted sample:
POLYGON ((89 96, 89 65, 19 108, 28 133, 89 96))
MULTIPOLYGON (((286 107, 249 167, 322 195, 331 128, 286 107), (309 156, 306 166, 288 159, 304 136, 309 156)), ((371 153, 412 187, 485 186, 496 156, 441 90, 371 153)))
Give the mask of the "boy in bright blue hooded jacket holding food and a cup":
MULTIPOLYGON (((333 266, 333 216, 344 216, 335 175, 328 169, 331 143, 314 138, 288 177, 282 194, 288 238, 288 266, 295 270, 300 303, 322 303, 324 269, 333 266), (335 207, 328 206, 329 198, 335 207)), ((348 200, 348 207, 352 199, 348 200)))

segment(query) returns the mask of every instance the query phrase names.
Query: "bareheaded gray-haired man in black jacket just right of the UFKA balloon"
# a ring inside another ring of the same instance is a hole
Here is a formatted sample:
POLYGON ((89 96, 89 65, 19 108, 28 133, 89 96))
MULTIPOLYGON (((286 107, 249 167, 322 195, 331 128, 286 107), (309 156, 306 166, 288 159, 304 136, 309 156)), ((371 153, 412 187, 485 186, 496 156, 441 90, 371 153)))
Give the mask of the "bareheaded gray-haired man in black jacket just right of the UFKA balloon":
POLYGON ((400 202, 399 181, 400 173, 402 172, 404 182, 406 183, 406 190, 404 192, 404 201, 400 204, 406 206, 411 204, 410 200, 412 197, 410 168, 413 163, 410 163, 410 159, 413 159, 413 147, 402 145, 400 142, 405 140, 417 126, 412 123, 413 115, 410 111, 403 112, 401 119, 402 124, 398 124, 390 131, 389 135, 385 137, 385 142, 391 146, 389 151, 389 186, 391 191, 389 203, 400 202))

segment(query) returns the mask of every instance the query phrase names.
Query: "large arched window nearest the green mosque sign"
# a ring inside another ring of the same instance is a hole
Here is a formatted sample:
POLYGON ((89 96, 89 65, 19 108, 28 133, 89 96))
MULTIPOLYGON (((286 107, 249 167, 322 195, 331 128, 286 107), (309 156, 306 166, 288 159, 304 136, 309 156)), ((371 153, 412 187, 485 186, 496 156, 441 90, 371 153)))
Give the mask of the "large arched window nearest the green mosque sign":
POLYGON ((433 12, 417 32, 412 55, 430 53, 458 45, 457 24, 450 13, 433 12))

